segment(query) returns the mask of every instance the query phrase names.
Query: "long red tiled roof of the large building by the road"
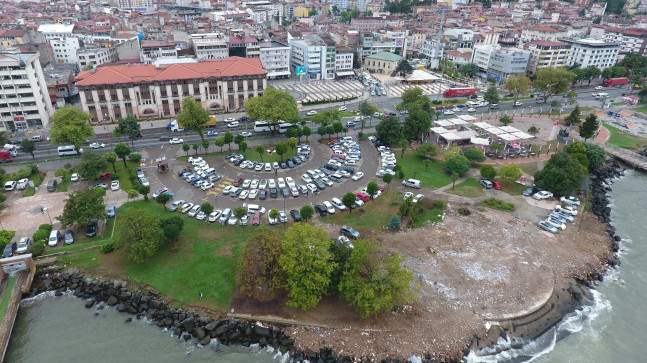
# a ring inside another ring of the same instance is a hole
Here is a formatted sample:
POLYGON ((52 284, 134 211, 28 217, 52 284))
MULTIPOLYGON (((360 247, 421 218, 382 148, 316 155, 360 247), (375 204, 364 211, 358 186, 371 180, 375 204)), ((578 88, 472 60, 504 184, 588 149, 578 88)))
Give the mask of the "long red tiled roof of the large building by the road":
POLYGON ((76 84, 90 86, 258 74, 267 74, 259 58, 229 57, 198 63, 168 64, 160 68, 152 64, 99 67, 94 73, 92 71, 81 72, 76 77, 76 84))

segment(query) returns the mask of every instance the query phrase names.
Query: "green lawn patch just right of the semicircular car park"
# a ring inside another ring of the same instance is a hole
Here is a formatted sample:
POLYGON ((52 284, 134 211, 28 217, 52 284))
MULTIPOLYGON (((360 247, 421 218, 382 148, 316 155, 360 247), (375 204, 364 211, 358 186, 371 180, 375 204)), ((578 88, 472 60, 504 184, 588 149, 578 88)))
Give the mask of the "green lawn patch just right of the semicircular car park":
POLYGON ((405 178, 418 179, 422 185, 430 188, 440 188, 453 181, 452 177, 443 171, 443 162, 440 160, 425 159, 411 150, 404 152, 404 159, 400 158, 400 150, 396 150, 394 153, 405 178), (425 161, 429 161, 427 171, 425 171, 425 161))

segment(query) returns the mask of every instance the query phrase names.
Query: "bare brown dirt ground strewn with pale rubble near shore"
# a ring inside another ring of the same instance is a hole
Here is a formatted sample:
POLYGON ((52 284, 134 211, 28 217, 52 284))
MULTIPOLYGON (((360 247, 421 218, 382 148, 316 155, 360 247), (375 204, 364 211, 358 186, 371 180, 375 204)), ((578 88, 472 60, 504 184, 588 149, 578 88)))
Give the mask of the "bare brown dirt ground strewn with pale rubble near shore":
POLYGON ((387 249, 408 256, 406 267, 420 285, 417 301, 400 312, 363 320, 337 297, 305 312, 284 300, 261 304, 238 295, 232 306, 236 313, 311 326, 287 330, 304 349, 327 346, 376 359, 426 352, 457 356, 486 332, 486 321, 533 310, 569 278, 604 268, 600 261, 608 257, 609 238, 588 213, 554 236, 508 213, 471 208, 472 215, 463 217, 457 207, 450 206, 438 225, 380 234, 387 249))

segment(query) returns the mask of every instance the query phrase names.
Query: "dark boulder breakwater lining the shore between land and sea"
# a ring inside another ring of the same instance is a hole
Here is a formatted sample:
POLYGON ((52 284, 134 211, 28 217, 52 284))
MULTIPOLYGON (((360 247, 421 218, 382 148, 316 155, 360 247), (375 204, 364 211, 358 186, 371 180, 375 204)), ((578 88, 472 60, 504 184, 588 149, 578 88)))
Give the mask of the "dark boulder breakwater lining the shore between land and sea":
MULTIPOLYGON (((608 207, 607 192, 610 190, 609 180, 622 174, 619 163, 615 159, 607 161, 603 170, 596 171, 591 175, 593 194, 593 206, 591 211, 598 220, 607 224, 606 232, 610 236, 610 252, 617 252, 618 240, 615 229, 608 225, 610 208, 608 207)), ((619 264, 617 256, 610 254, 605 264, 605 270, 619 264)), ((552 294, 546 302, 520 316, 505 316, 489 326, 485 334, 466 337, 471 343, 448 349, 449 354, 428 353, 420 357, 425 362, 457 362, 463 359, 470 351, 482 351, 484 353, 496 352, 497 342, 501 338, 513 341, 511 348, 518 346, 516 338, 523 341, 532 340, 551 327, 558 324, 562 318, 575 309, 580 309, 584 303, 591 298, 589 288, 592 288, 596 281, 603 279, 605 270, 592 268, 590 271, 583 271, 574 276, 574 279, 566 283, 556 284, 552 294), (486 352, 487 351, 487 352, 486 352)), ((200 316, 194 312, 187 312, 182 309, 175 309, 168 306, 164 298, 156 293, 133 292, 127 288, 126 283, 120 281, 93 280, 85 274, 76 271, 54 272, 53 274, 41 275, 35 281, 37 286, 31 296, 43 291, 55 291, 61 294, 63 291, 71 290, 79 298, 86 300, 86 307, 91 308, 95 302, 103 301, 115 307, 120 312, 127 312, 135 318, 146 317, 161 328, 168 328, 174 331, 179 339, 191 339, 195 337, 201 344, 208 344, 213 338, 218 338, 222 344, 241 344, 249 346, 259 344, 273 346, 282 354, 289 354, 295 360, 308 359, 310 361, 319 358, 324 361, 371 361, 369 357, 338 356, 330 348, 319 350, 301 347, 295 344, 285 333, 287 325, 261 324, 256 320, 243 319, 222 319, 214 320, 209 317, 200 316)), ((132 319, 132 318, 128 318, 132 319)), ((128 321, 126 319, 126 321, 128 321)), ((499 350, 500 351, 500 350, 499 350)), ((447 352, 447 353, 448 353, 447 352)), ((484 354, 485 355, 485 354, 484 354)), ((391 359, 406 360, 407 357, 391 357, 391 359)))

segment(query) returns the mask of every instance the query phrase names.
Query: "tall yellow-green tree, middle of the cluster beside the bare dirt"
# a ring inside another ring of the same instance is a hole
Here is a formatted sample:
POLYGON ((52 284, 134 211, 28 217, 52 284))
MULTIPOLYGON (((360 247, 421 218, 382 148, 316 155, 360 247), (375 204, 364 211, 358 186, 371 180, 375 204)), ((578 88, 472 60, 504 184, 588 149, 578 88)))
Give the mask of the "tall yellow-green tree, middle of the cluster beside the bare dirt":
POLYGON ((329 247, 328 232, 308 223, 294 224, 285 233, 279 264, 286 276, 288 306, 307 310, 319 303, 336 267, 329 247))

